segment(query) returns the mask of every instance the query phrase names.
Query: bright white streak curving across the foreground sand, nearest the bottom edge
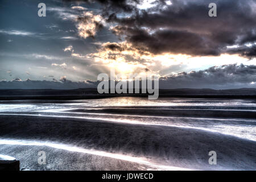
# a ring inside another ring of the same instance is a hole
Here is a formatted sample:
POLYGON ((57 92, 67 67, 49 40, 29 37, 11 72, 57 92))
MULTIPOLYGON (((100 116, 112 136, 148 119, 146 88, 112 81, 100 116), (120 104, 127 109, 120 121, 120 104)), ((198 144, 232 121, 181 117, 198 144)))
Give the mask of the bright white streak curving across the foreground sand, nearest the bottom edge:
POLYGON ((0 144, 22 145, 22 146, 47 146, 47 147, 57 148, 57 149, 61 149, 61 150, 67 150, 67 151, 71 151, 71 152, 81 152, 81 153, 84 153, 84 154, 91 154, 91 155, 97 155, 97 156, 104 156, 104 157, 107 157, 107 158, 125 160, 125 161, 128 161, 128 162, 134 162, 134 163, 144 164, 144 165, 151 166, 151 167, 156 167, 156 168, 162 169, 162 170, 163 169, 165 169, 165 170, 174 170, 174 171, 180 171, 180 170, 189 171, 189 170, 192 170, 192 169, 189 169, 189 168, 180 168, 180 167, 174 167, 174 166, 164 166, 164 165, 161 165, 161 164, 154 164, 154 163, 148 162, 146 159, 137 158, 137 157, 134 157, 134 156, 114 154, 114 153, 105 152, 105 151, 89 150, 89 149, 85 149, 85 148, 80 148, 80 147, 70 146, 70 145, 67 145, 67 144, 60 144, 60 143, 37 142, 37 141, 28 141, 28 140, 0 139, 0 144))

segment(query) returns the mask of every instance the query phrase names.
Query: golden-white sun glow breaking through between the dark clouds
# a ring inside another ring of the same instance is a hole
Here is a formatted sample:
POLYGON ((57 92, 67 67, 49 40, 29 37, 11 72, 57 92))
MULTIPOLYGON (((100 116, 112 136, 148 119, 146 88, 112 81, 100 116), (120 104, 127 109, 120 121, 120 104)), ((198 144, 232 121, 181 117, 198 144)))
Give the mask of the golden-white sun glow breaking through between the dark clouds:
POLYGON ((102 63, 104 67, 114 68, 122 77, 130 73, 158 74, 166 76, 165 73, 191 72, 209 67, 225 64, 254 64, 255 60, 248 60, 240 55, 221 54, 219 56, 192 56, 185 54, 159 53, 154 54, 147 50, 140 50, 130 43, 103 43, 98 52, 90 53, 88 56, 96 64, 102 63), (179 69, 182 68, 182 69, 179 69), (170 70, 170 71, 168 71, 170 70), (164 72, 165 73, 164 73, 164 72))

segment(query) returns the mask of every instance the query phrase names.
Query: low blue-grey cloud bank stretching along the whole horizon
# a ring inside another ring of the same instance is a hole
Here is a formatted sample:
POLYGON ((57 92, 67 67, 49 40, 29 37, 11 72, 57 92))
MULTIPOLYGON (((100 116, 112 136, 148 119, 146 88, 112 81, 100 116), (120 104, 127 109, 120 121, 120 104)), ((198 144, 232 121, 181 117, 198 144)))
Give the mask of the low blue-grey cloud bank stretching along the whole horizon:
MULTIPOLYGON (((96 88, 97 81, 68 80, 66 76, 61 76, 59 81, 26 80, 16 78, 13 81, 0 81, 1 89, 77 89, 96 88)), ((210 67, 201 71, 181 72, 166 77, 160 77, 160 89, 174 88, 212 88, 212 89, 232 89, 232 88, 255 88, 256 66, 229 64, 220 67, 210 67)))

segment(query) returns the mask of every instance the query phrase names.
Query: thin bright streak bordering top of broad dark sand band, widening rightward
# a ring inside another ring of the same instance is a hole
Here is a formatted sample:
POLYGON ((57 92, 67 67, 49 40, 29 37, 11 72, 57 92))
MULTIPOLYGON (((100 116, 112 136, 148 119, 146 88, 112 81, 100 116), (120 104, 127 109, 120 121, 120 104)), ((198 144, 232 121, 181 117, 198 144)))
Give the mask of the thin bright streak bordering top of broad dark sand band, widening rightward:
MULTIPOLYGON (((87 113, 88 114, 88 113, 87 113)), ((127 123, 127 124, 133 124, 133 125, 151 125, 151 126, 168 126, 168 127, 177 127, 177 128, 184 128, 184 129, 195 129, 195 130, 203 130, 203 131, 208 131, 212 133, 219 133, 219 134, 224 134, 224 135, 230 135, 233 137, 237 138, 242 138, 242 139, 247 139, 247 140, 252 140, 256 141, 256 136, 255 135, 241 135, 236 132, 231 132, 231 128, 235 129, 245 129, 245 126, 243 127, 238 127, 238 126, 225 126, 225 125, 216 125, 214 126, 215 129, 208 129, 205 127, 193 127, 193 126, 181 126, 181 125, 167 125, 167 124, 160 124, 160 123, 147 123, 147 122, 138 122, 138 121, 133 121, 129 119, 106 119, 106 118, 91 118, 91 117, 73 117, 73 116, 67 116, 67 115, 42 115, 42 114, 0 114, 0 115, 27 115, 27 116, 36 116, 36 117, 53 117, 53 118, 77 118, 77 119, 92 119, 96 121, 109 121, 109 122, 116 122, 116 123, 127 123), (223 130, 224 129, 224 130, 223 130)), ((104 114, 102 114, 104 115, 104 114)), ((255 131, 256 127, 255 126, 247 126, 247 129, 251 131, 255 131)), ((241 130, 242 131, 242 130, 241 130)))

